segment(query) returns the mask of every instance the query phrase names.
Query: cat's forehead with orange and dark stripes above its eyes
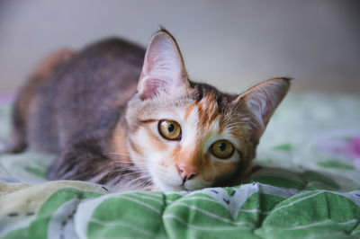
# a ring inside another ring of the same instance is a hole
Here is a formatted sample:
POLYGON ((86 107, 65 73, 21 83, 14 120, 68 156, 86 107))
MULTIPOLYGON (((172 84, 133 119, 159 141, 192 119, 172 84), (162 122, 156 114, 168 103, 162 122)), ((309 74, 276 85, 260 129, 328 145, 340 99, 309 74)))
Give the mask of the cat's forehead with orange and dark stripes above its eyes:
POLYGON ((229 125, 232 128, 238 117, 237 95, 221 93, 209 84, 193 84, 182 95, 160 94, 159 97, 142 104, 138 117, 142 120, 181 120, 196 125, 198 129, 217 126, 220 132, 229 125))

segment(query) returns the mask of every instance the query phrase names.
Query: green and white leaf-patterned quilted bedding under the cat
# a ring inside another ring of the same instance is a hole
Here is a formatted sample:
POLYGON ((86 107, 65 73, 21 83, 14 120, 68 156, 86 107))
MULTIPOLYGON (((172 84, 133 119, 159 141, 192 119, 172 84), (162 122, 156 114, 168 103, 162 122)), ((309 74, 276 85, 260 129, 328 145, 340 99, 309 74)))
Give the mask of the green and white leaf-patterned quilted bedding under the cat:
MULTIPOLYGON (((10 106, 0 98, 0 137, 10 106)), ((52 155, 0 156, 1 238, 358 238, 360 97, 289 94, 232 188, 113 192, 47 181, 52 155)))

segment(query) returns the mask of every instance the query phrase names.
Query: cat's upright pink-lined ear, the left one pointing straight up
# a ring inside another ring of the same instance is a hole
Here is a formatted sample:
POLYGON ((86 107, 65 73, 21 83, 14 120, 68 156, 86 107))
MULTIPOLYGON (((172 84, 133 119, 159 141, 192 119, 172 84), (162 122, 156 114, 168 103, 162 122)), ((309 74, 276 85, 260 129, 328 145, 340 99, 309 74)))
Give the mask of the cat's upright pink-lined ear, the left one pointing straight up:
POLYGON ((158 93, 176 94, 190 85, 184 60, 173 36, 158 31, 150 40, 139 78, 142 100, 158 93))

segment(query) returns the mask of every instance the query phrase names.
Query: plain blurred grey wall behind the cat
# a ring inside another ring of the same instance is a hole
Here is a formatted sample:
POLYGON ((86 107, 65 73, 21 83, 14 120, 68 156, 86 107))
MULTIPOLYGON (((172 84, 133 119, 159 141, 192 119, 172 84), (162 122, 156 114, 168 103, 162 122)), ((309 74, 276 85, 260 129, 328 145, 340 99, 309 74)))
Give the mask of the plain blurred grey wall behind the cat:
POLYGON ((108 36, 144 46, 164 25, 190 77, 241 92, 275 76, 295 91, 360 93, 359 1, 1 1, 0 91, 51 50, 108 36))

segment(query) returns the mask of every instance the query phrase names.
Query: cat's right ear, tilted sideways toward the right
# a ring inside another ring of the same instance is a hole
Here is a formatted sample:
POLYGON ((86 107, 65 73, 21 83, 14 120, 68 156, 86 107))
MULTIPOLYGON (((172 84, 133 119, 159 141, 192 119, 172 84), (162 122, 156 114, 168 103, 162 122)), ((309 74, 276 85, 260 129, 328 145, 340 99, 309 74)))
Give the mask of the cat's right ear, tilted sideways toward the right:
MULTIPOLYGON (((236 102, 250 112, 250 119, 257 137, 260 137, 275 109, 283 101, 290 87, 290 78, 275 78, 241 93, 236 102), (244 105, 245 104, 245 105, 244 105)), ((244 110, 243 107, 242 110, 244 110)))

